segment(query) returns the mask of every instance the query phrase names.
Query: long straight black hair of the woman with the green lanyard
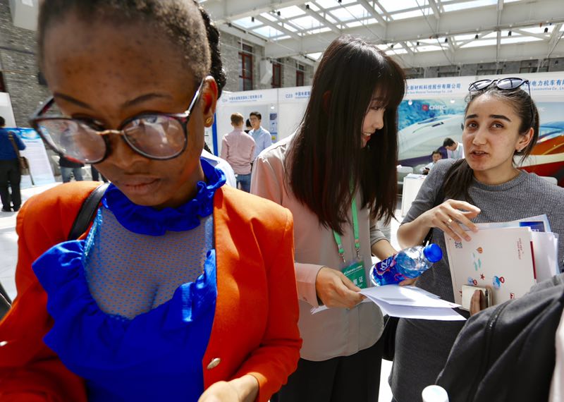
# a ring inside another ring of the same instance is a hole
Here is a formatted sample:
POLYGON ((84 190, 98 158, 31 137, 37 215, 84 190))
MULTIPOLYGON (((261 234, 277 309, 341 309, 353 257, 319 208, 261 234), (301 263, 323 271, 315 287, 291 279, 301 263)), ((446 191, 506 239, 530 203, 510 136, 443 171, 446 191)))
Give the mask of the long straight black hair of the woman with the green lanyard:
POLYGON ((311 96, 285 162, 295 197, 338 233, 353 195, 372 217, 389 220, 396 208, 397 109, 405 92, 402 68, 375 45, 342 36, 321 57, 311 96), (378 90, 384 128, 362 148, 364 116, 378 90))

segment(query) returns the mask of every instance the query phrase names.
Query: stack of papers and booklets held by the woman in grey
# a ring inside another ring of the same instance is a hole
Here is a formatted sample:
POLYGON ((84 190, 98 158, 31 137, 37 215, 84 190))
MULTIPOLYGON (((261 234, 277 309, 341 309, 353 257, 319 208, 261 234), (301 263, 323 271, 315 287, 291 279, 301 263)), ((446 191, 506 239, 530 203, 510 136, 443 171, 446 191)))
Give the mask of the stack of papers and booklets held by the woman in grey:
POLYGON ((456 303, 462 303, 462 285, 489 286, 495 305, 558 273, 558 235, 546 215, 477 226, 470 241, 445 236, 456 303))

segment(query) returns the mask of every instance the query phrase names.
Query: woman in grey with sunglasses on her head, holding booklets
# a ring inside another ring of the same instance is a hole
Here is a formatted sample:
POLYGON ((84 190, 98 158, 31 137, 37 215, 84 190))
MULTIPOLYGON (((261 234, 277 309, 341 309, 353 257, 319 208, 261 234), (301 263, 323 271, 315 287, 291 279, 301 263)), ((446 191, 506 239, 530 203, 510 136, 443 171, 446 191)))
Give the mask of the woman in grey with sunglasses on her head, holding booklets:
MULTIPOLYGON (((470 85, 462 143, 466 159, 437 162, 398 229, 402 247, 422 243, 432 229, 433 242, 446 251, 444 233, 470 240, 461 224, 477 231, 480 222, 513 221, 548 215, 560 235, 559 265, 564 256, 564 189, 517 169, 539 138, 539 113, 527 80, 481 80, 470 85), (441 202, 437 207, 436 199, 441 202)), ((454 301, 446 252, 422 274, 420 288, 454 301)), ((499 255, 502 259, 503 255, 499 255)), ((400 319, 396 333, 391 387, 398 402, 418 401, 434 384, 464 322, 400 319)))

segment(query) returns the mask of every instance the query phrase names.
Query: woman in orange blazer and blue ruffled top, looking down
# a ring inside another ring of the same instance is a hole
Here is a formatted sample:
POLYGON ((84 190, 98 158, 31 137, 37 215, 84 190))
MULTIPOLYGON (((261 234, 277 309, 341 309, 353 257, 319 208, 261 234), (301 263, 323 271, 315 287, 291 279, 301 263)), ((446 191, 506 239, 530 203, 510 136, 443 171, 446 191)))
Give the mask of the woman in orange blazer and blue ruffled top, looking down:
POLYGON ((38 33, 63 116, 32 124, 113 184, 80 240, 94 183, 20 211, 0 400, 268 401, 301 345, 293 219, 200 159, 218 30, 196 1, 49 0, 38 33))

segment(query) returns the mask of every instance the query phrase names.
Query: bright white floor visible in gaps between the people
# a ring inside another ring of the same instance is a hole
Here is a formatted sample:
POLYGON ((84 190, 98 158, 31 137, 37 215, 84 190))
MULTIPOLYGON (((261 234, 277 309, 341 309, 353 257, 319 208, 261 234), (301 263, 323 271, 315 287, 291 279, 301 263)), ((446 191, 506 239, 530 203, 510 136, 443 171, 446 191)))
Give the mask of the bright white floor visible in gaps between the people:
MULTIPOLYGON (((54 185, 59 185, 56 183, 54 185)), ((32 195, 42 193, 42 191, 53 187, 54 185, 44 185, 35 188, 25 188, 22 190, 22 200, 25 202, 32 195)), ((16 216, 17 212, 0 212, 0 281, 8 295, 13 299, 16 297, 16 283, 14 274, 16 272, 16 262, 18 260, 18 238, 16 236, 16 216)), ((396 209, 396 217, 401 219, 400 204, 396 209)), ((398 221, 391 222, 391 243, 399 250, 396 233, 398 231, 398 221)), ((381 402, 391 401, 391 391, 388 386, 388 375, 391 370, 391 362, 382 361, 381 379, 380 379, 380 398, 381 402)))

